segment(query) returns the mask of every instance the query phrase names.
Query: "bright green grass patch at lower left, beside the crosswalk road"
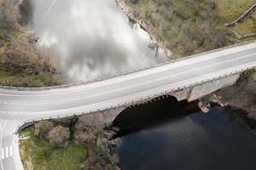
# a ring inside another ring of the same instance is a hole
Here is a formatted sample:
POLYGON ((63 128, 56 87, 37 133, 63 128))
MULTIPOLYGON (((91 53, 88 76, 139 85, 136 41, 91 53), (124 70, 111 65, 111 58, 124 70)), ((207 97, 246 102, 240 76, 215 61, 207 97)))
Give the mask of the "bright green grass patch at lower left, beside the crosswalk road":
POLYGON ((66 149, 53 148, 48 141, 34 135, 32 127, 20 132, 30 139, 20 141, 20 156, 25 170, 80 170, 87 150, 84 145, 69 144, 66 149))

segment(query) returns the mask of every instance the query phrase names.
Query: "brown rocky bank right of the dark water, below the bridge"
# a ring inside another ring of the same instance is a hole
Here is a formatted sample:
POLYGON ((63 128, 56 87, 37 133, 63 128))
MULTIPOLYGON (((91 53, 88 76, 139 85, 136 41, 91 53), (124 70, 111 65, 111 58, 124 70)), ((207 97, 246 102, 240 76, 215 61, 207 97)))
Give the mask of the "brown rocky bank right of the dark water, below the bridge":
POLYGON ((229 107, 240 112, 245 122, 256 128, 256 72, 249 70, 241 73, 238 81, 231 87, 219 90, 200 99, 199 105, 204 112, 212 105, 229 107))

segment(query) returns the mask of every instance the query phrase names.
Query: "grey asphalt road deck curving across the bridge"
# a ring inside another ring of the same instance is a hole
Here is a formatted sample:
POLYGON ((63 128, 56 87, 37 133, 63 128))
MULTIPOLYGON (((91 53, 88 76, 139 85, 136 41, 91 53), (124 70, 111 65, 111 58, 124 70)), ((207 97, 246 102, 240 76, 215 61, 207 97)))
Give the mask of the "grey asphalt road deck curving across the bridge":
POLYGON ((4 118, 25 120, 96 111, 193 86, 255 65, 256 42, 252 42, 68 88, 32 91, 0 88, 0 111, 4 118))

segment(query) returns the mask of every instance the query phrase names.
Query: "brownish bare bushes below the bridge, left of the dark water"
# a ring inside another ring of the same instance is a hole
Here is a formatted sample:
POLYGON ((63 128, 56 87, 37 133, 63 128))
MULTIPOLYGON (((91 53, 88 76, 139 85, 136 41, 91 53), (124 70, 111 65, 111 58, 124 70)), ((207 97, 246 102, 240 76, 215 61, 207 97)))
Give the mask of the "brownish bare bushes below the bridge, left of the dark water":
POLYGON ((66 148, 69 143, 85 145, 87 156, 81 167, 83 170, 114 169, 119 159, 108 142, 113 138, 114 130, 103 125, 93 126, 87 118, 41 121, 34 125, 34 133, 48 140, 54 148, 66 148))

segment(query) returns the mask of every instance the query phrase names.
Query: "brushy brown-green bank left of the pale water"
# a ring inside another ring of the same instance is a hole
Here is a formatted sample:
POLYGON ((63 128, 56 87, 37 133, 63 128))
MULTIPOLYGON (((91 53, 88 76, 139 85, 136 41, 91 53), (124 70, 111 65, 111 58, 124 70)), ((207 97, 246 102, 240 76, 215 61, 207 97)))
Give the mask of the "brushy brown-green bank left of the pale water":
POLYGON ((32 37, 17 23, 13 5, 0 2, 0 84, 42 87, 60 84, 47 49, 35 48, 32 37))

